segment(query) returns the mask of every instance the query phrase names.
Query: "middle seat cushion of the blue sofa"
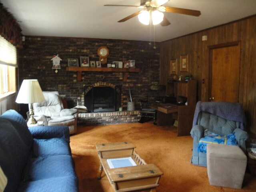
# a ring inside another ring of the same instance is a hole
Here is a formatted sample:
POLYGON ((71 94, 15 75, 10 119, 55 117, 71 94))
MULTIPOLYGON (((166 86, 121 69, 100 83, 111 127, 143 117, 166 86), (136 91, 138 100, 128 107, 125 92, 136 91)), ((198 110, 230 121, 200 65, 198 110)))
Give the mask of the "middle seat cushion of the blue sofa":
POLYGON ((24 181, 74 176, 74 162, 69 155, 32 158, 24 170, 24 181))

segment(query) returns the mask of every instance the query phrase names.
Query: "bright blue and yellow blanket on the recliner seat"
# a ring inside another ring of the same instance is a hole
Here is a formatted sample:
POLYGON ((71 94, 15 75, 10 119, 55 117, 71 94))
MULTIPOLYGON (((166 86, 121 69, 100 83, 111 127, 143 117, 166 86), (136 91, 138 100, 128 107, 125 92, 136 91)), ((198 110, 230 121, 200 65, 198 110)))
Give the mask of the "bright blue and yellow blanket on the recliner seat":
POLYGON ((233 133, 224 136, 209 132, 208 130, 206 130, 205 133, 208 134, 199 140, 199 144, 197 146, 198 152, 206 153, 206 146, 208 143, 222 145, 238 145, 236 142, 236 136, 233 133))

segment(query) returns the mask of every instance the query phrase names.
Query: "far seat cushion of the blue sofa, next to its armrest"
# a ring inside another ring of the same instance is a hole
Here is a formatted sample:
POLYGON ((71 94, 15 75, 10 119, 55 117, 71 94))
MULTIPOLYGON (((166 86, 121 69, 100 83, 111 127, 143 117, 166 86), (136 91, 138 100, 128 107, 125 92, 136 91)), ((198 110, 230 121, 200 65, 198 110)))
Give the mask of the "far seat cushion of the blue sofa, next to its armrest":
POLYGON ((71 155, 69 143, 63 138, 34 139, 33 156, 71 155))

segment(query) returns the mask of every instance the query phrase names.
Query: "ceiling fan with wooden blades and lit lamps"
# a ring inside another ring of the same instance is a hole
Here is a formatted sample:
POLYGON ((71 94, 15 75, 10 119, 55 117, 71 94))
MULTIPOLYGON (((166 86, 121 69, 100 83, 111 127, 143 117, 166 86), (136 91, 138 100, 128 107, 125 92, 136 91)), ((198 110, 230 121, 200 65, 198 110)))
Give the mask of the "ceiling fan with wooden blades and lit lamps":
POLYGON ((135 5, 104 5, 104 6, 124 6, 124 7, 136 7, 142 8, 138 12, 131 14, 118 22, 125 22, 130 18, 133 18, 138 15, 140 22, 148 25, 150 23, 150 18, 154 25, 161 23, 162 26, 168 26, 171 23, 166 19, 162 12, 172 12, 172 13, 180 13, 191 16, 200 16, 201 12, 197 10, 183 9, 183 8, 175 8, 175 7, 166 7, 162 6, 169 0, 140 0, 140 6, 135 5))

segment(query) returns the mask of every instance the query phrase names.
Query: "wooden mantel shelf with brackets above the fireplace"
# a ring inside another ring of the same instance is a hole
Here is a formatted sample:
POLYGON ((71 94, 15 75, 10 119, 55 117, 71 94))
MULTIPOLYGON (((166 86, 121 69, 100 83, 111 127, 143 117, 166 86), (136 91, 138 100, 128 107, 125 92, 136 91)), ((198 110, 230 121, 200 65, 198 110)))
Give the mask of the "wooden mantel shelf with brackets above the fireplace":
POLYGON ((125 72, 124 81, 127 80, 128 72, 140 72, 139 68, 112 68, 112 67, 67 67, 66 70, 77 72, 78 82, 81 81, 82 71, 125 72))

